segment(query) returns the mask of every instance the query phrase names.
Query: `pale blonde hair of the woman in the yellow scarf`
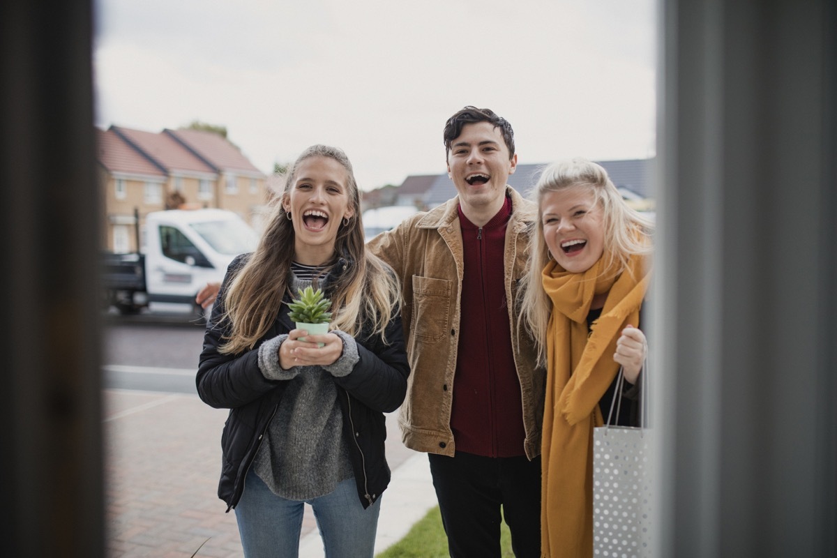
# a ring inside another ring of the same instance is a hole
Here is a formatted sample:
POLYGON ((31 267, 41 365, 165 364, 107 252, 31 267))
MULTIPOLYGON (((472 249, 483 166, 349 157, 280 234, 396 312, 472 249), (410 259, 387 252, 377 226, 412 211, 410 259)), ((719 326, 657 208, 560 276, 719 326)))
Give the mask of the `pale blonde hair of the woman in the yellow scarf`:
POLYGON ((620 274, 627 268, 632 255, 649 255, 653 246, 654 223, 644 218, 625 203, 604 167, 575 157, 557 161, 541 172, 530 198, 537 203, 537 219, 529 238, 529 272, 521 289, 521 310, 518 320, 536 342, 537 361, 546 363, 546 336, 552 301, 543 289, 541 272, 552 255, 543 236, 541 202, 547 192, 558 192, 571 187, 588 187, 603 213, 603 269, 615 264, 620 274))

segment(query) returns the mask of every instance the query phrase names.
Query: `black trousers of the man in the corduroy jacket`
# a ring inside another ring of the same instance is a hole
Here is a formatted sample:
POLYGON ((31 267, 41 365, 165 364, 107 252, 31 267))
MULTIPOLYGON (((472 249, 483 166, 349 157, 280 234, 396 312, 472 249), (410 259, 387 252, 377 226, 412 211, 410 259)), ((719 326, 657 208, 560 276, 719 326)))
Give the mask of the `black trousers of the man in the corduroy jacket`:
POLYGON ((517 558, 541 556, 541 458, 429 454, 453 558, 500 556, 500 509, 517 558))

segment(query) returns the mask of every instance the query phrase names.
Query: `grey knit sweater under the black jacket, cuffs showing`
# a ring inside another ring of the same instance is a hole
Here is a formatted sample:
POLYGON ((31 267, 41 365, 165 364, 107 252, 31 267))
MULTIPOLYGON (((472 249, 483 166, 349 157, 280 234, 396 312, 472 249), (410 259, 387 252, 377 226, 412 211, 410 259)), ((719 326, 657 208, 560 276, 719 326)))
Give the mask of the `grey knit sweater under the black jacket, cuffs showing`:
MULTIPOLYGON (((292 292, 311 281, 296 279, 292 292)), ((253 467, 274 494, 307 500, 329 494, 341 480, 352 478, 349 446, 333 377, 347 376, 359 361, 357 344, 340 330, 343 354, 329 366, 283 369, 279 349, 288 335, 277 335, 259 347, 259 369, 271 380, 290 380, 279 409, 256 453, 253 467)))

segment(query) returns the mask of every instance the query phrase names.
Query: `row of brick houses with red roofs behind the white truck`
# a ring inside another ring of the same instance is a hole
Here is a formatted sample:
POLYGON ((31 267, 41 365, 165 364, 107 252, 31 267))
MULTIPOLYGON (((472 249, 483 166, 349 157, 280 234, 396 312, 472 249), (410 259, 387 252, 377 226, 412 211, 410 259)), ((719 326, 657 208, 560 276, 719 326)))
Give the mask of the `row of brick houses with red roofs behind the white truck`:
POLYGON ((222 136, 112 125, 97 130, 97 142, 105 210, 102 248, 135 251, 145 215, 177 207, 227 209, 261 230, 271 195, 266 177, 222 136))

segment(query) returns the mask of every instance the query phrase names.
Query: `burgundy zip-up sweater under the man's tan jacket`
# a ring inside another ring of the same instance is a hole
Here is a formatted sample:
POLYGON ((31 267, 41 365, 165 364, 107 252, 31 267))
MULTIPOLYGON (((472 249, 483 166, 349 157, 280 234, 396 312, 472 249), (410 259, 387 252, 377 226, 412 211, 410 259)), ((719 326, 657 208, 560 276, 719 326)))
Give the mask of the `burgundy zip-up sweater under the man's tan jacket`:
POLYGON ((511 351, 503 253, 511 199, 483 227, 460 207, 465 276, 450 427, 456 450, 491 458, 525 455, 523 406, 511 351))

